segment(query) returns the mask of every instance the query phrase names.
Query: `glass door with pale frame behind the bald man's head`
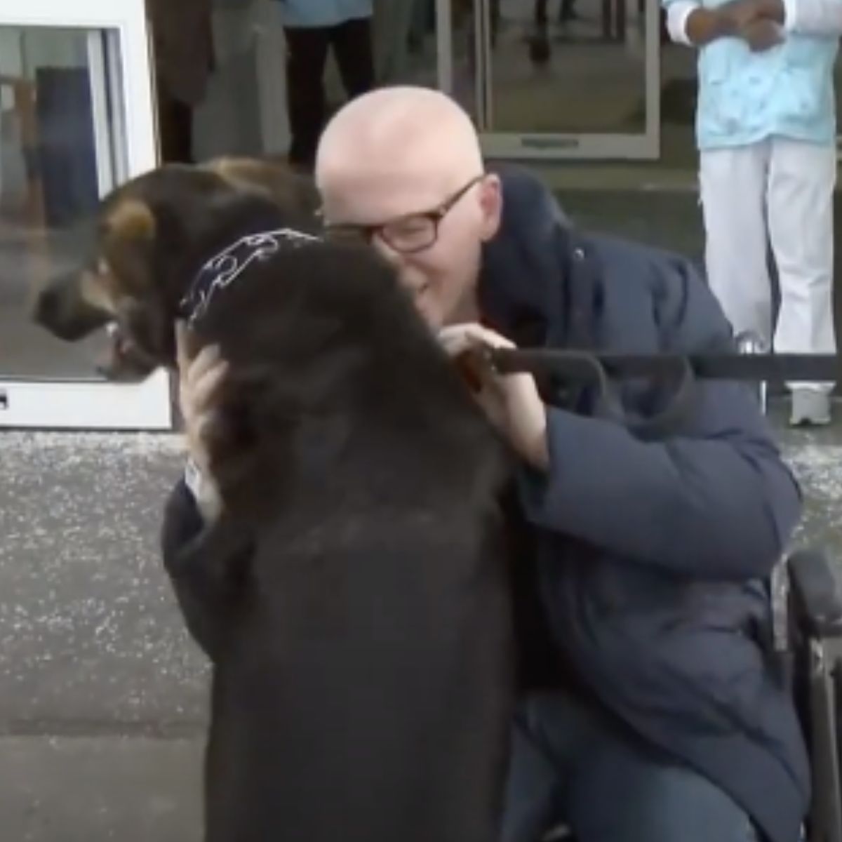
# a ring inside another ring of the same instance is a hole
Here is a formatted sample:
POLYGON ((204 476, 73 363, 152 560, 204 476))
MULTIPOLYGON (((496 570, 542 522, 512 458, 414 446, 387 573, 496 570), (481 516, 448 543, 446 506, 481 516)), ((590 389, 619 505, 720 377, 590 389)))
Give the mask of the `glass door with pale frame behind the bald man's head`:
POLYGON ((658 157, 658 0, 435 3, 440 84, 488 157, 658 157))

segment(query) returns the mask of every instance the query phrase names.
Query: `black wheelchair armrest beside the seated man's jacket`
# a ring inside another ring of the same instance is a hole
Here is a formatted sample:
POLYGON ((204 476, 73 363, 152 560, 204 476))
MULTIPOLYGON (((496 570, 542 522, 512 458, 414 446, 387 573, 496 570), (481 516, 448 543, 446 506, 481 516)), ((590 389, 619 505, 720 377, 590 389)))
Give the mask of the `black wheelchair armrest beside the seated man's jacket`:
POLYGON ((794 552, 786 562, 797 621, 815 637, 842 637, 842 589, 828 557, 794 552))

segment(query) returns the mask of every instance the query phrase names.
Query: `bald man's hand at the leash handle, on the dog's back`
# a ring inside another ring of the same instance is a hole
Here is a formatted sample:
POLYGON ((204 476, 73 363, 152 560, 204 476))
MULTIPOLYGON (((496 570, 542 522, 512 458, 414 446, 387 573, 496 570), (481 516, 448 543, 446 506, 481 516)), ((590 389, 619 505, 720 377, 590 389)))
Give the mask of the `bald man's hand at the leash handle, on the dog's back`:
MULTIPOLYGON (((455 360, 483 348, 514 348, 508 339, 475 323, 444 328, 439 339, 445 353, 455 360)), ((529 374, 500 375, 488 365, 478 365, 473 373, 477 379, 474 395, 492 424, 525 461, 546 470, 550 461, 546 407, 535 379, 529 374)))

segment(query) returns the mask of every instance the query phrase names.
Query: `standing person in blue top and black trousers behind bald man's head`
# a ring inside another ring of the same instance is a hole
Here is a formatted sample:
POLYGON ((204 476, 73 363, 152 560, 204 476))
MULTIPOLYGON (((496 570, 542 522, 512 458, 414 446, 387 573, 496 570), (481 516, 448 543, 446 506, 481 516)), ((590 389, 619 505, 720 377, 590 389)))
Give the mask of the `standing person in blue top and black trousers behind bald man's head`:
POLYGON ((290 163, 311 169, 327 119, 324 71, 333 55, 349 99, 374 87, 372 0, 280 0, 286 38, 290 163))

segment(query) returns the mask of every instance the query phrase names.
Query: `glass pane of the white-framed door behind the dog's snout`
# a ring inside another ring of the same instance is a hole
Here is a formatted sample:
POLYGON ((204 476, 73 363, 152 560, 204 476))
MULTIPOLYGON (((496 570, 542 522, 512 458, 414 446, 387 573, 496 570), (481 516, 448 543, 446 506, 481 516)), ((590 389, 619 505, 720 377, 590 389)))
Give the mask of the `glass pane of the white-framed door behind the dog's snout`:
POLYGON ((0 27, 0 376, 90 379, 80 344, 29 320, 38 291, 84 257, 99 196, 125 169, 116 32, 0 27))

